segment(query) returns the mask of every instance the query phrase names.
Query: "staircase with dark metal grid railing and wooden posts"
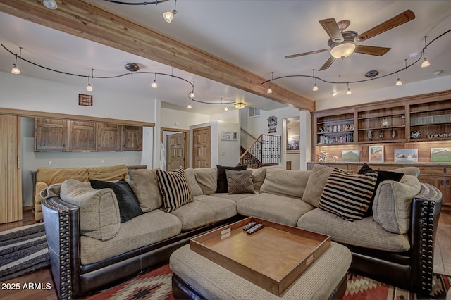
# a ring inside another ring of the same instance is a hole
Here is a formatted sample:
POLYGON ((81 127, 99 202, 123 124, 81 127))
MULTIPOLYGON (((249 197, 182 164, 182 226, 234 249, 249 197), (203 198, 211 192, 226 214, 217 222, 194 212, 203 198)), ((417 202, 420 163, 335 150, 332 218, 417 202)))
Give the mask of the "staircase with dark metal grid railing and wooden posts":
MULTIPOLYGON (((245 133, 247 132, 245 131, 245 133)), ((278 165, 281 158, 282 137, 280 135, 263 134, 259 135, 249 148, 241 147, 240 163, 238 165, 247 165, 247 168, 258 169, 268 165, 278 165)))

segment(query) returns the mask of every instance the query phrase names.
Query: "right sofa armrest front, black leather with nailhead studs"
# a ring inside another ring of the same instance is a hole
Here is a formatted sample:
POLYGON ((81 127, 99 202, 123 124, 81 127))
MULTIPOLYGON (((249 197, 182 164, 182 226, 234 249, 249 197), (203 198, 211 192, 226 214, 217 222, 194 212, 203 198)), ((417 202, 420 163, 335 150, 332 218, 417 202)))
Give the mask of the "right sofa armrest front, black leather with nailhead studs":
POLYGON ((421 183, 421 191, 412 202, 411 287, 427 294, 432 289, 435 232, 442 207, 442 193, 433 185, 421 183))

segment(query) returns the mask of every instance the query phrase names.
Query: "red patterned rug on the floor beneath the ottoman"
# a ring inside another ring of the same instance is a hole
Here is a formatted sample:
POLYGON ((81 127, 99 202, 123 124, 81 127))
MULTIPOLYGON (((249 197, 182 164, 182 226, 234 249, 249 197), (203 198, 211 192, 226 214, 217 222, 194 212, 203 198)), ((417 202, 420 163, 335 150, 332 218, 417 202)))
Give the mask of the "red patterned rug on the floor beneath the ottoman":
MULTIPOLYGON (((133 278, 121 285, 90 296, 85 300, 173 300, 171 292, 172 272, 169 265, 133 278)), ((445 299, 450 289, 451 277, 434 274, 430 299, 445 299)), ((347 274, 347 289, 343 300, 416 300, 416 294, 399 289, 368 277, 347 274)))

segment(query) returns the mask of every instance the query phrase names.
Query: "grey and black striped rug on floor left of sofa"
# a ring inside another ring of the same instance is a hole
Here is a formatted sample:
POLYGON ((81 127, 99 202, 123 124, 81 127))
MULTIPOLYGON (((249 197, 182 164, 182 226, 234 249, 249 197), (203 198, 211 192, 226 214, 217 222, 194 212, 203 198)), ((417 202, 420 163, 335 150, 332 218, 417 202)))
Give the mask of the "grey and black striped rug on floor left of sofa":
POLYGON ((0 282, 50 267, 44 223, 0 232, 0 282))

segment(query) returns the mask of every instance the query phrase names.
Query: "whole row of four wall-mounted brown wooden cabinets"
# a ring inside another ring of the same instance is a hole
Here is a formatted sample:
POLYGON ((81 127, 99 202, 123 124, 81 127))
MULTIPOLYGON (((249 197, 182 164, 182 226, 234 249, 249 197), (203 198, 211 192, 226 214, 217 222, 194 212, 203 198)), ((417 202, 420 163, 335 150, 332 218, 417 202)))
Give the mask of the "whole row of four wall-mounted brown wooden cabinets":
POLYGON ((36 118, 35 151, 142 151, 142 127, 36 118))

